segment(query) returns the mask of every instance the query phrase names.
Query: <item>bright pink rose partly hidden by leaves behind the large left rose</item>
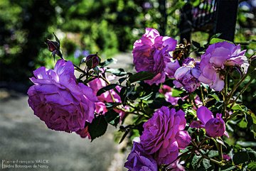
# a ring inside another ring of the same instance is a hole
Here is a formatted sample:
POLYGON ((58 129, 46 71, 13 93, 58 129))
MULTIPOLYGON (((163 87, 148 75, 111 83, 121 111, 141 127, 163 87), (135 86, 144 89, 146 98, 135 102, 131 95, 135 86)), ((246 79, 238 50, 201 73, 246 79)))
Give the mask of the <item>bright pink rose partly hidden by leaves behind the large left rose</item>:
MULTIPOLYGON (((109 77, 109 79, 114 79, 114 77, 109 77)), ((89 82, 89 87, 92 88, 92 92, 93 94, 97 94, 97 91, 99 89, 101 89, 102 87, 106 87, 107 84, 106 82, 101 79, 101 78, 97 78, 92 80, 91 82, 89 82)), ((116 87, 117 91, 120 91, 120 87, 117 86, 116 87)), ((112 94, 114 101, 117 103, 121 103, 121 99, 120 96, 117 94, 117 92, 114 92, 114 89, 111 89, 110 91, 107 91, 103 94, 101 94, 100 96, 97 96, 98 102, 95 104, 96 105, 96 110, 95 112, 97 114, 105 114, 107 112, 107 107, 105 105, 105 103, 110 103, 110 102, 114 102, 112 99, 112 96, 110 95, 112 94)), ((124 109, 129 109, 128 106, 125 106, 124 109)), ((114 111, 116 111, 119 116, 120 116, 120 120, 122 121, 122 118, 124 118, 125 112, 119 109, 114 109, 114 111)))

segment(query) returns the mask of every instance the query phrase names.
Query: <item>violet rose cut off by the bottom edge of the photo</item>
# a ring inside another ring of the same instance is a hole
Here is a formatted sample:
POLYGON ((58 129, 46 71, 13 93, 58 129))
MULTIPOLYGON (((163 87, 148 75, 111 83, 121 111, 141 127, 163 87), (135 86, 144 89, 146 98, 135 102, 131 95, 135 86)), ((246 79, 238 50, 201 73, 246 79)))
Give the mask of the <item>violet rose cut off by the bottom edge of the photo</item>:
POLYGON ((127 167, 129 171, 157 171, 156 161, 151 155, 145 153, 140 143, 134 142, 127 160, 124 167, 127 167))

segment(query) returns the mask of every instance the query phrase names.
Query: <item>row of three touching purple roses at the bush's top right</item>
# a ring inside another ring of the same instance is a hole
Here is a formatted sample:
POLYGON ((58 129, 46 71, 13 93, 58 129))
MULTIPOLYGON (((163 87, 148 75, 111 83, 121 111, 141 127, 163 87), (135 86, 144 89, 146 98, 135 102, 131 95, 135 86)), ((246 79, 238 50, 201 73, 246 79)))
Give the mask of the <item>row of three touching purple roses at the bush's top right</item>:
POLYGON ((171 57, 177 41, 159 35, 153 28, 146 28, 142 38, 134 43, 134 65, 137 72, 153 72, 156 76, 146 81, 148 84, 165 82, 166 76, 175 78, 174 85, 183 87, 188 92, 194 92, 200 83, 205 83, 215 91, 224 87, 225 68, 237 66, 242 72, 247 72, 248 62, 246 50, 240 50, 240 45, 228 42, 209 45, 206 53, 201 55, 201 62, 187 57, 180 63, 171 57))

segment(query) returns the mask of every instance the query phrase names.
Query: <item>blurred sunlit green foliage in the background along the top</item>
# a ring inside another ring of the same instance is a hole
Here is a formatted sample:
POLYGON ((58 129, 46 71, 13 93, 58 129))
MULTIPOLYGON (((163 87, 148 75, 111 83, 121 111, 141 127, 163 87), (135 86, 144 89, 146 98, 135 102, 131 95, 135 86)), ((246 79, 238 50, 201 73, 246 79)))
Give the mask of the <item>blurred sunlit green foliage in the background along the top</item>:
MULTIPOLYGON (((201 0, 193 0, 198 4, 201 0)), ((102 58, 131 52, 144 28, 178 39, 179 9, 186 0, 1 0, 0 82, 29 84, 28 77, 54 61, 44 40, 60 38, 63 55, 76 64, 89 53, 102 58), (163 2, 166 6, 163 6, 163 2), (166 13, 162 11, 166 7, 166 13)), ((235 43, 256 50, 256 2, 240 1, 235 43)), ((194 32, 192 40, 207 43, 208 33, 194 32)), ((251 87, 248 91, 255 91, 251 87)), ((249 99, 249 98, 248 98, 249 99)))

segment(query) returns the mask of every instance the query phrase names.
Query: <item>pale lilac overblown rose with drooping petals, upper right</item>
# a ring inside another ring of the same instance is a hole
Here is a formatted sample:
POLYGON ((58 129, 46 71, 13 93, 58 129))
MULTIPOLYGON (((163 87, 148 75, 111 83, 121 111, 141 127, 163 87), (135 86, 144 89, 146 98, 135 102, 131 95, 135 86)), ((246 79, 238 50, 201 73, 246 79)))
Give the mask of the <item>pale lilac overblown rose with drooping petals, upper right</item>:
POLYGON ((215 91, 221 91, 224 88, 224 75, 221 70, 225 70, 225 66, 238 66, 243 72, 247 72, 248 61, 245 51, 240 50, 240 45, 228 42, 209 45, 206 53, 201 55, 201 75, 198 80, 209 84, 215 91))

